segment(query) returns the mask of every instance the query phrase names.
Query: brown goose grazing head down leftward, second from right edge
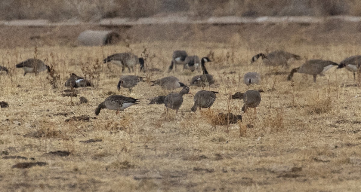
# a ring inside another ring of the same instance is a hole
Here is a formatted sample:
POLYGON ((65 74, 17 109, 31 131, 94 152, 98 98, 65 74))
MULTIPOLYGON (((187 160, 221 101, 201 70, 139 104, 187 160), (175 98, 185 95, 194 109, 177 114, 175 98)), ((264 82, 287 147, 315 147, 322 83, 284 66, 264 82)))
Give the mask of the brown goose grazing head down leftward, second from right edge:
POLYGON ((290 75, 288 75, 287 77, 287 80, 291 80, 293 74, 298 72, 313 75, 313 82, 316 82, 317 75, 324 76, 323 73, 329 70, 334 65, 338 66, 338 64, 332 61, 325 61, 320 59, 308 60, 300 67, 292 69, 290 75))

